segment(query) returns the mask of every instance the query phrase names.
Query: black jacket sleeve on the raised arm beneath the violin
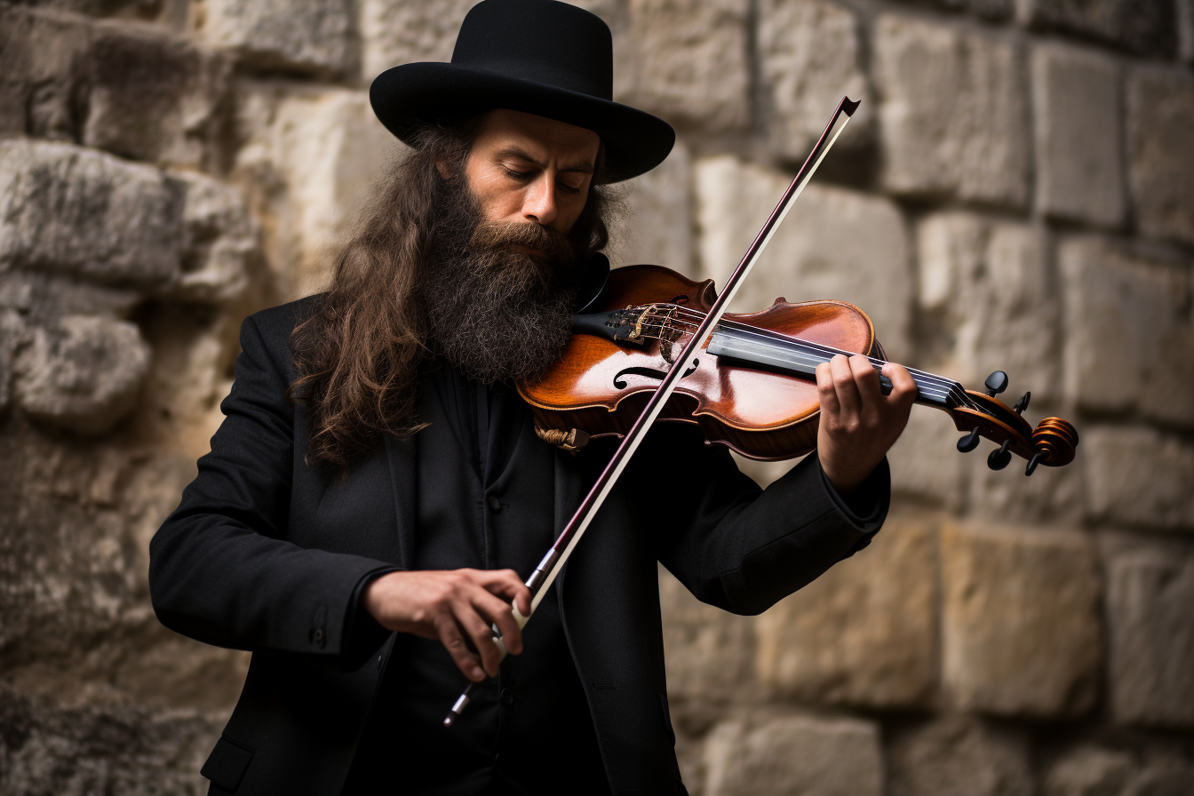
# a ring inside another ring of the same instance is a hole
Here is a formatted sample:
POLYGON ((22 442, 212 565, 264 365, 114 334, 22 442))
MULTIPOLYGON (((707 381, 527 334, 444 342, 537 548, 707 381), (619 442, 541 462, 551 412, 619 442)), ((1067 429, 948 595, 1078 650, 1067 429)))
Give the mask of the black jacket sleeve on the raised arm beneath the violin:
POLYGON ((665 428, 652 443, 683 467, 664 483, 654 471, 654 499, 642 495, 639 504, 654 529, 659 561, 704 603, 761 613, 869 544, 886 519, 886 459, 847 504, 816 455, 761 489, 725 448, 704 445, 700 432, 684 426, 659 431, 665 428))

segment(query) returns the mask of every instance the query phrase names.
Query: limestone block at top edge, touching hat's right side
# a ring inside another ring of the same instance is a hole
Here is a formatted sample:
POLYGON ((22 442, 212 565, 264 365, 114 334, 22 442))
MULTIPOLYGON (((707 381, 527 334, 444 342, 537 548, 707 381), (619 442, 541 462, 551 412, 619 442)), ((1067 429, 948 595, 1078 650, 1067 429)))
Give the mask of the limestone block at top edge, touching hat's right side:
POLYGON ((632 104, 709 131, 750 124, 745 0, 629 0, 632 104))

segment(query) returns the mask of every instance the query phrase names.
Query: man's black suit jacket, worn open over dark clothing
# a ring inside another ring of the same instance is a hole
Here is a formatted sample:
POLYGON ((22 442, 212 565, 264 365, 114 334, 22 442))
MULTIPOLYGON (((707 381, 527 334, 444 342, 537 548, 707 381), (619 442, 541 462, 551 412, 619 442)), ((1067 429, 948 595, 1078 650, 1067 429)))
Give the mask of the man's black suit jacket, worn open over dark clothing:
MULTIPOLYGON (((150 543, 159 619, 253 653, 203 769, 215 794, 340 791, 393 647, 355 591, 410 566, 416 488, 433 476, 416 465, 418 436, 384 439, 340 483, 304 464, 309 421, 287 388, 290 332, 310 301, 245 321, 227 418, 150 543)), ((556 532, 611 450, 556 451, 556 532)), ((554 586, 615 794, 683 792, 656 562, 704 603, 758 613, 869 541, 886 514, 886 462, 869 488, 878 506, 860 522, 814 456, 764 492, 695 426, 651 432, 554 586)))

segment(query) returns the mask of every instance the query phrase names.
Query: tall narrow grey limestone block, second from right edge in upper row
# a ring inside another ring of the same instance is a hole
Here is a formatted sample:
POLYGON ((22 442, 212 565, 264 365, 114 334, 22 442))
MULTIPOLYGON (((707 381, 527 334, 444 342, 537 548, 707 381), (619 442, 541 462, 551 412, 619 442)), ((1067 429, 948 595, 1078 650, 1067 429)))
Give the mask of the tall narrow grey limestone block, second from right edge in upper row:
POLYGON ((1124 221, 1119 69, 1091 50, 1033 50, 1036 208, 1057 218, 1118 227, 1124 221))

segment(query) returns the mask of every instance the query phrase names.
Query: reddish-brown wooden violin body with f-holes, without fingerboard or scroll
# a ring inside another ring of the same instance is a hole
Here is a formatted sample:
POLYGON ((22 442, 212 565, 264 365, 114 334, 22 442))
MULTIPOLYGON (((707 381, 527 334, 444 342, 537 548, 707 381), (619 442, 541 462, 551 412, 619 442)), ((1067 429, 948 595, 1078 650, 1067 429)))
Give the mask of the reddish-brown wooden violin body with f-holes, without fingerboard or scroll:
MULTIPOLYGON (((658 265, 610 272, 590 310, 616 310, 653 303, 707 313, 716 300, 713 280, 694 282, 658 265)), ((843 351, 873 353, 879 347, 866 313, 847 302, 783 301, 759 313, 727 314, 727 321, 820 343, 843 351)), ((681 344, 652 339, 642 347, 573 334, 560 362, 536 384, 519 385, 543 428, 581 428, 590 437, 622 436, 634 424, 672 364, 681 344)), ((685 368, 660 421, 695 422, 710 443, 749 458, 793 458, 817 446, 817 384, 807 378, 730 365, 701 353, 685 368)))

